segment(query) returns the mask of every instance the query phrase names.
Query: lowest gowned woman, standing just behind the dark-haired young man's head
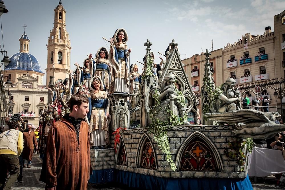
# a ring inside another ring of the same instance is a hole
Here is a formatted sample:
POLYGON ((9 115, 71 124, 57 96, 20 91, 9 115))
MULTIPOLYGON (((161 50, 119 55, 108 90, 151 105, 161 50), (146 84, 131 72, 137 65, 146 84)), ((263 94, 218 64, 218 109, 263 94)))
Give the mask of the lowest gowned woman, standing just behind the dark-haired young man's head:
POLYGON ((103 149, 109 144, 109 103, 107 92, 104 91, 104 84, 101 77, 94 76, 89 87, 92 98, 92 111, 89 125, 90 142, 92 149, 103 149))

